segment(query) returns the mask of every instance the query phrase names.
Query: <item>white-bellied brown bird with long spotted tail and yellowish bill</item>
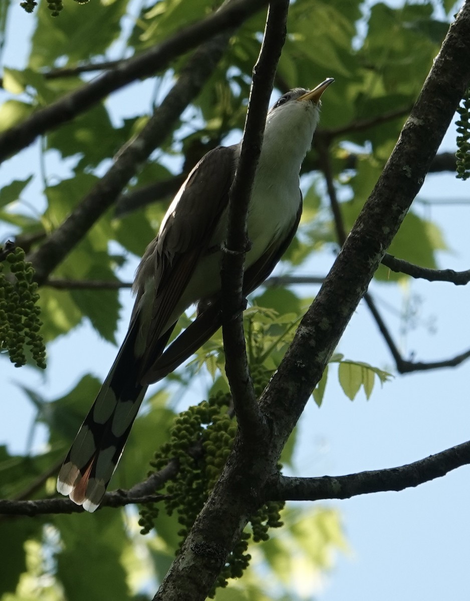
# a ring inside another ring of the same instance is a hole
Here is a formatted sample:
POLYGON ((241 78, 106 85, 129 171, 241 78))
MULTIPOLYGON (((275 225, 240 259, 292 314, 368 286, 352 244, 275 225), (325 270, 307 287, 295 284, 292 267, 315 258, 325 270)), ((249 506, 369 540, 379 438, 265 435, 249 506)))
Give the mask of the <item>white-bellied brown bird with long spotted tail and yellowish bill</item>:
MULTIPOLYGON (((245 296, 270 275, 295 236, 302 213, 299 173, 319 123, 320 97, 333 81, 294 88, 267 113, 247 216, 245 296)), ((222 245, 240 146, 219 146, 197 163, 136 270, 126 337, 58 475, 58 492, 87 511, 102 501, 148 385, 221 326, 222 245), (177 320, 194 304, 197 316, 167 346, 177 320)))

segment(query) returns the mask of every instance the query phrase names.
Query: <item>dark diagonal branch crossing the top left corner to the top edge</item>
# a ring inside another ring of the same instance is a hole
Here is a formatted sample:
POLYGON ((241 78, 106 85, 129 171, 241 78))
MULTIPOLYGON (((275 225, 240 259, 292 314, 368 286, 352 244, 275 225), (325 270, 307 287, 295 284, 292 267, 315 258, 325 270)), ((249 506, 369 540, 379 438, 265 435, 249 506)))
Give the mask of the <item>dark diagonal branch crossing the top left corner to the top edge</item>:
POLYGON ((267 4, 267 0, 231 0, 227 6, 203 21, 189 25, 169 40, 142 55, 130 58, 115 69, 73 91, 61 100, 35 112, 17 126, 0 135, 0 162, 25 148, 47 130, 55 129, 87 111, 106 96, 136 79, 149 77, 166 67, 172 59, 223 31, 240 26, 249 16, 267 4))

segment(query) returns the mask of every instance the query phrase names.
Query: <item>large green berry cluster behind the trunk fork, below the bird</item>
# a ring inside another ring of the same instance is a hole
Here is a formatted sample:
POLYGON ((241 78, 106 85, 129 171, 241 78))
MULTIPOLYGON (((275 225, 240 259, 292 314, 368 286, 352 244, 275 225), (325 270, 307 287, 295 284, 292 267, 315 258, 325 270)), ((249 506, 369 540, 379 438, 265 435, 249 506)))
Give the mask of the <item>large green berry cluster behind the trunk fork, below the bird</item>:
MULTIPOLYGON (((254 369, 252 377, 257 392, 263 390, 270 375, 263 367, 254 369)), ((177 475, 166 484, 168 498, 165 500, 165 510, 169 515, 173 512, 178 515, 178 521, 182 525, 178 532, 181 537, 180 547, 215 486, 231 451, 237 424, 229 411, 230 401, 230 394, 219 391, 209 400, 180 413, 175 419, 169 442, 157 451, 151 462, 156 471, 165 468, 171 459, 177 459, 179 463, 177 475)), ((249 521, 254 542, 267 540, 268 529, 282 525, 279 511, 283 506, 283 502, 267 502, 251 516, 249 521)), ((141 509, 139 525, 142 527, 142 534, 153 528, 157 515, 156 505, 147 505, 141 509)), ((249 532, 242 532, 218 576, 211 597, 217 587, 227 586, 229 578, 240 578, 243 575, 251 560, 246 552, 249 538, 249 532)))

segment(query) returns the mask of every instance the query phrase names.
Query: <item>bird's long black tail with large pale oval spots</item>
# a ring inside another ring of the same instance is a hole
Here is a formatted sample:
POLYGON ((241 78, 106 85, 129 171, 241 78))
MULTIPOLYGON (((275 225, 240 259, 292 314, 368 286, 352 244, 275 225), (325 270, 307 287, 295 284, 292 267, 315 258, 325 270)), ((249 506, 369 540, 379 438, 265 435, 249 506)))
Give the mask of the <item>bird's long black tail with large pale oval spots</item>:
MULTIPOLYGON (((161 338, 161 350, 171 330, 161 338)), ((141 383, 141 361, 134 353, 137 331, 137 326, 130 327, 57 479, 58 492, 90 512, 106 492, 147 391, 147 384, 141 383)))

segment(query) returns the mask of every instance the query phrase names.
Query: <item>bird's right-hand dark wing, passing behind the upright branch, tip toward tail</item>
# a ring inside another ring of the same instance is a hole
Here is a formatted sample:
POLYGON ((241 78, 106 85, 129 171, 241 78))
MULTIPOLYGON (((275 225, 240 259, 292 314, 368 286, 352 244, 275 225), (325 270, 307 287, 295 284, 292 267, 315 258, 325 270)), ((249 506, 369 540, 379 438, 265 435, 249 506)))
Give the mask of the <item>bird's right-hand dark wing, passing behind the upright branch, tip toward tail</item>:
MULTIPOLYGON (((245 272, 243 293, 249 294, 261 285, 270 275, 284 252, 293 240, 302 215, 302 195, 296 220, 287 236, 279 244, 273 243, 264 254, 245 272)), ((216 297, 196 319, 179 335, 159 356, 148 370, 145 383, 150 384, 162 379, 186 361, 202 346, 222 325, 222 306, 220 297, 216 297)))

